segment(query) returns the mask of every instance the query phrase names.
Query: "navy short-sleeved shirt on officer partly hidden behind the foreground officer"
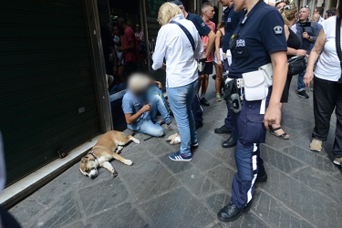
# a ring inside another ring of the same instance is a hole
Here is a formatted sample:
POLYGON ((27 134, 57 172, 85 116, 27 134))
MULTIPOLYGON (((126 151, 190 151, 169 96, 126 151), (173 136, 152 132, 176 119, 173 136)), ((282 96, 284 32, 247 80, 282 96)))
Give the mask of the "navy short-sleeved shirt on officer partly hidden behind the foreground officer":
POLYGON ((226 8, 223 11, 224 36, 223 36, 223 52, 226 53, 229 49, 229 40, 237 25, 239 25, 241 18, 244 17, 244 10, 241 12, 234 12, 234 6, 226 8))

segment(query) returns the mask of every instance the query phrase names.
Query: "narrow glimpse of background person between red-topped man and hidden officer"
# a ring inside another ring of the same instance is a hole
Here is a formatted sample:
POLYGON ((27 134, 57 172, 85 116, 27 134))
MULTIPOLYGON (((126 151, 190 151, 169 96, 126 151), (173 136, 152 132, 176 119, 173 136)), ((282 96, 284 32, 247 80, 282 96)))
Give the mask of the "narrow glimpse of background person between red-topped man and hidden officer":
POLYGON ((224 24, 221 22, 217 26, 216 39, 215 39, 215 55, 213 59, 213 65, 215 66, 216 78, 215 78, 215 90, 216 101, 221 101, 221 81, 223 77, 223 36, 224 36, 224 24))

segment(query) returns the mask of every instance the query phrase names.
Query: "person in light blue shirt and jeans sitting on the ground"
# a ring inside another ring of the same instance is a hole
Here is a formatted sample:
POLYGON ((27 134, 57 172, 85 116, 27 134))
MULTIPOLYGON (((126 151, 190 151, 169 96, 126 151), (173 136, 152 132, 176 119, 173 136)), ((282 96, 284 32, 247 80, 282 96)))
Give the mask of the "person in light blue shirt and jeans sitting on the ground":
POLYGON ((122 99, 122 110, 130 130, 161 137, 164 135, 161 127, 163 122, 166 123, 166 130, 177 130, 165 106, 161 82, 153 81, 146 75, 135 74, 130 77, 129 89, 122 99), (163 120, 154 122, 159 113, 163 120))

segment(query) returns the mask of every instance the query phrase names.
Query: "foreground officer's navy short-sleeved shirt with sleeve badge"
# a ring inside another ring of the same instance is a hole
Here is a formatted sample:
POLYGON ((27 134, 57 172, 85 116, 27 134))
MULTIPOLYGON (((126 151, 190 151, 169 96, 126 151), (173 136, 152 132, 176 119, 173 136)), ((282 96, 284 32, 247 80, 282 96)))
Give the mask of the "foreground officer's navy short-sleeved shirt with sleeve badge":
POLYGON ((270 54, 286 51, 284 20, 279 12, 260 0, 236 27, 236 47, 232 51, 230 78, 271 63, 270 54))

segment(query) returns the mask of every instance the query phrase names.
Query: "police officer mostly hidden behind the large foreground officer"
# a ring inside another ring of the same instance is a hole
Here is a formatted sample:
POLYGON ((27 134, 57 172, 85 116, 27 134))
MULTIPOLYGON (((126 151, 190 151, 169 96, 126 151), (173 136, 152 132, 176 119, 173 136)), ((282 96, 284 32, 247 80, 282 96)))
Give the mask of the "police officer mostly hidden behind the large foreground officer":
MULTIPOLYGON (((223 53, 226 53, 229 49, 229 40, 235 31, 236 26, 239 24, 241 18, 244 16, 244 11, 235 12, 232 0, 219 0, 226 8, 223 11, 223 23, 224 23, 224 36, 223 36, 223 53)), ((227 65, 227 64, 225 64, 227 65)), ((228 66, 224 66, 228 67, 228 66)), ((227 104, 228 107, 228 104, 227 104)), ((221 128, 214 130, 216 134, 229 134, 233 130, 231 112, 227 111, 227 117, 224 119, 224 124, 221 128)), ((223 148, 232 148, 236 145, 236 137, 231 134, 228 140, 224 140, 223 148)))

